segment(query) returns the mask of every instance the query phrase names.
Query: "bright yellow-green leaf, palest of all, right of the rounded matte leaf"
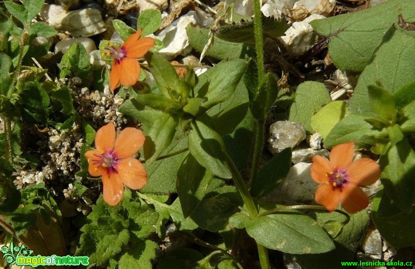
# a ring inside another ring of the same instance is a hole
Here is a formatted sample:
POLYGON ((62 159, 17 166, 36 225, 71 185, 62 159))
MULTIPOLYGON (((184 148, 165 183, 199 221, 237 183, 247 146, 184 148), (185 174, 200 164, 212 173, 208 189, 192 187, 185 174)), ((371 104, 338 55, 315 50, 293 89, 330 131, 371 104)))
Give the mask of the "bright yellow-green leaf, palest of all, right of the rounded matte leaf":
POLYGON ((332 101, 311 117, 311 128, 326 138, 334 126, 344 118, 346 112, 346 102, 332 101))

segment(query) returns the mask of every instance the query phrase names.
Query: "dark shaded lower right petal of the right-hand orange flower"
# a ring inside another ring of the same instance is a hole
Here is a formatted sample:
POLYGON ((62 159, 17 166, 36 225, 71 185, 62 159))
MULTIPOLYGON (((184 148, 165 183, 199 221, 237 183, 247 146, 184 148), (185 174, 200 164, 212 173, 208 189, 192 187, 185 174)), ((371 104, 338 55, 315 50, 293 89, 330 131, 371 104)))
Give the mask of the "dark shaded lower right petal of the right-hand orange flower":
POLYGON ((369 198, 354 184, 349 184, 343 189, 340 201, 342 207, 349 213, 359 212, 369 205, 369 198))

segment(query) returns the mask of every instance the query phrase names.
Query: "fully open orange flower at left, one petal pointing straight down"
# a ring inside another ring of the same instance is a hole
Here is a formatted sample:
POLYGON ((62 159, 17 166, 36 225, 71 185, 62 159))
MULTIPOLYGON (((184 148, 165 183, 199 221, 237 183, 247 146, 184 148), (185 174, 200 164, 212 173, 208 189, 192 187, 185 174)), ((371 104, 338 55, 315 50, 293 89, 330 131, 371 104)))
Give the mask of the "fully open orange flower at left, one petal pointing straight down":
POLYGON ((95 135, 97 150, 85 153, 88 159, 88 172, 93 177, 103 177, 104 201, 114 206, 121 201, 124 185, 130 189, 140 189, 147 183, 147 173, 135 158, 144 144, 143 132, 135 128, 125 128, 115 138, 114 124, 101 127, 95 135))

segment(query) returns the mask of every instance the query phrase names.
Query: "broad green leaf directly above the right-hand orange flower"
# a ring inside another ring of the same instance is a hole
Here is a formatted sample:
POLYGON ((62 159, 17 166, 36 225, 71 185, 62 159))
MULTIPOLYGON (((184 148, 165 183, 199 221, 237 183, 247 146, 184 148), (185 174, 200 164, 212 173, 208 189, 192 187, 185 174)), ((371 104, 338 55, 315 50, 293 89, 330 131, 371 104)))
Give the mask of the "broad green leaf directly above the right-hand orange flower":
POLYGON ((373 126, 365 121, 366 117, 358 114, 350 114, 341 119, 324 138, 325 147, 355 141, 359 147, 375 144, 375 137, 380 134, 373 126))

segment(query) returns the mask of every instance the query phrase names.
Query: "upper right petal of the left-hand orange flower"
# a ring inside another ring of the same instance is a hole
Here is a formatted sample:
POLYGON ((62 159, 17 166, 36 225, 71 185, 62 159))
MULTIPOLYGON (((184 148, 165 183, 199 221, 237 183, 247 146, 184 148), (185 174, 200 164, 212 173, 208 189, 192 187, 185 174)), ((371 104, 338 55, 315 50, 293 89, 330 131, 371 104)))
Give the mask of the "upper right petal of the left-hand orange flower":
POLYGON ((124 159, 136 154, 144 144, 146 137, 141 130, 127 127, 122 130, 115 141, 114 152, 117 159, 124 159))

